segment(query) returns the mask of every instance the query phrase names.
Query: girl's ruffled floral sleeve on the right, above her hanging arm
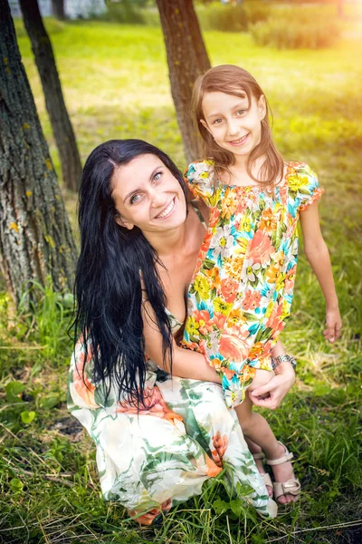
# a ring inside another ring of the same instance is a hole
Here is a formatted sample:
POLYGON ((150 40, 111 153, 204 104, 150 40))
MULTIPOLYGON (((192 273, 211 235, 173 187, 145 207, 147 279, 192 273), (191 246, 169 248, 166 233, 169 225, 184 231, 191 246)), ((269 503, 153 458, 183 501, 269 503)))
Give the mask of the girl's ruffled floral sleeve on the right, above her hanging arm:
POLYGON ((304 211, 324 193, 324 189, 319 187, 317 174, 308 164, 291 163, 288 167, 287 178, 297 211, 304 211))

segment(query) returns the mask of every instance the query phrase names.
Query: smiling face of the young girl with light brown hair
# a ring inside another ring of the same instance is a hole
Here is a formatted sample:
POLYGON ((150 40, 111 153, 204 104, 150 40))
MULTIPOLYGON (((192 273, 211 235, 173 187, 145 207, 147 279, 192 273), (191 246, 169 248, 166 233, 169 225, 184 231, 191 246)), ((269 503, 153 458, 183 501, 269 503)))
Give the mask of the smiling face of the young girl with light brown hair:
POLYGON ((205 129, 214 141, 233 155, 247 157, 258 145, 262 137, 262 120, 266 115, 265 99, 262 95, 257 101, 252 97, 206 92, 203 99, 205 129))

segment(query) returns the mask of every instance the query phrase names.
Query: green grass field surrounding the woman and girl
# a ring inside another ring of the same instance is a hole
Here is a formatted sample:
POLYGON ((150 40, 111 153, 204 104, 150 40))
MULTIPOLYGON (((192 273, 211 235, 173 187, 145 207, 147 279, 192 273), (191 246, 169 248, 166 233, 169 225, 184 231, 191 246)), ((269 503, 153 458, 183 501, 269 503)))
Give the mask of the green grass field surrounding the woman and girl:
MULTIPOLYGON (((185 167, 158 28, 48 22, 82 160, 101 141, 142 138, 185 167)), ((52 157, 43 94, 28 40, 19 45, 52 157)), ((362 540, 362 63, 361 24, 345 23, 329 50, 256 47, 248 34, 205 32, 213 64, 242 65, 262 84, 286 159, 304 160, 326 189, 320 203, 344 328, 326 345, 323 298, 300 255, 292 319, 282 340, 298 359, 298 381, 281 408, 265 413, 297 459, 300 502, 261 520, 229 502, 220 482, 138 529, 101 499, 93 444, 66 409, 71 341, 66 301, 44 290, 35 315, 14 315, 0 293, 0 542, 165 544, 350 543, 362 540), (224 508, 220 501, 224 499, 224 508), (242 512, 242 513, 241 513, 242 512)), ((75 224, 76 198, 65 195, 75 224)))

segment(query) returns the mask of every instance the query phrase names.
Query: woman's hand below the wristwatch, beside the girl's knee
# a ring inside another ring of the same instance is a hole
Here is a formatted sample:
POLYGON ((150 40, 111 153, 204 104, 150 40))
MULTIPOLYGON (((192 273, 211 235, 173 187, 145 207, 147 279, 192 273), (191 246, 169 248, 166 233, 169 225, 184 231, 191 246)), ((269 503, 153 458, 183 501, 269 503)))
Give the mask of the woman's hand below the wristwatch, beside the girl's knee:
POLYGON ((262 406, 262 408, 275 410, 291 389, 292 384, 294 384, 295 372, 291 363, 288 361, 278 364, 274 372, 275 376, 271 378, 271 381, 268 382, 268 384, 257 387, 249 392, 249 396, 255 406, 262 406), (269 396, 267 398, 262 398, 261 395, 266 393, 269 393, 269 396))

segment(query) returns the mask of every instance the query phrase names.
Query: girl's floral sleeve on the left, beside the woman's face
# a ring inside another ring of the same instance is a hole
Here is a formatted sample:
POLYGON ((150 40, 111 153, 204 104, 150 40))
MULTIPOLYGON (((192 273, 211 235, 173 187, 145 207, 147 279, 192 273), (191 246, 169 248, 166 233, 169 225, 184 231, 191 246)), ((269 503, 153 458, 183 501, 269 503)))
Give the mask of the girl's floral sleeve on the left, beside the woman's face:
POLYGON ((185 172, 187 187, 196 199, 203 200, 209 208, 214 206, 214 161, 192 162, 185 172))

